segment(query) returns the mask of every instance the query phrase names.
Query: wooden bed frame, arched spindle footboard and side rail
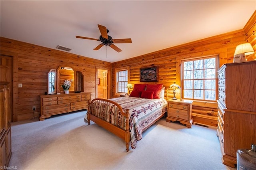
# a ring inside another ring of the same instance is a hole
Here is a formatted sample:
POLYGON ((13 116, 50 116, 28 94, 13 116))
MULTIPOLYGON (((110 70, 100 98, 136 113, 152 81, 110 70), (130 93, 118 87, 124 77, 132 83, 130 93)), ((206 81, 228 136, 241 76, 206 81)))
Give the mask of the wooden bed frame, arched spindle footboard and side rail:
MULTIPOLYGON (((90 121, 93 121, 97 125, 105 128, 106 130, 112 132, 116 136, 122 138, 126 143, 126 151, 128 152, 129 151, 129 146, 130 146, 130 141, 131 141, 130 125, 129 125, 129 118, 130 118, 129 109, 126 109, 126 113, 124 113, 122 107, 118 103, 116 103, 114 101, 111 101, 111 100, 108 100, 108 99, 98 99, 98 98, 96 98, 96 99, 93 99, 92 101, 89 101, 88 104, 89 104, 89 108, 88 108, 88 112, 87 112, 88 125, 90 125, 90 121), (108 122, 90 114, 92 103, 99 102, 99 101, 102 102, 102 103, 108 103, 111 106, 119 109, 120 114, 123 115, 124 117, 126 117, 126 125, 125 125, 126 130, 123 130, 119 127, 116 127, 115 125, 113 125, 111 123, 108 123, 108 122)), ((164 116, 164 114, 162 116, 160 116, 158 119, 156 119, 155 121, 153 121, 152 123, 150 123, 150 125, 148 125, 146 128, 142 129, 142 132, 144 130, 146 130, 148 127, 150 127, 151 125, 153 125, 156 121, 161 119, 163 116, 164 116)))

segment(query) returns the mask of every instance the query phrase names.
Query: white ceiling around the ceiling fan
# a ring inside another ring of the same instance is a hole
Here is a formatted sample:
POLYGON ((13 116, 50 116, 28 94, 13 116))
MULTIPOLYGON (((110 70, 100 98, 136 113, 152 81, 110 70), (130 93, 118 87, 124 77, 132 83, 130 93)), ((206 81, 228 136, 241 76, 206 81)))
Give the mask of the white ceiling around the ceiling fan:
POLYGON ((256 0, 228 1, 0 1, 0 36, 115 62, 244 28, 256 0), (106 26, 122 51, 103 46, 97 24, 106 26))

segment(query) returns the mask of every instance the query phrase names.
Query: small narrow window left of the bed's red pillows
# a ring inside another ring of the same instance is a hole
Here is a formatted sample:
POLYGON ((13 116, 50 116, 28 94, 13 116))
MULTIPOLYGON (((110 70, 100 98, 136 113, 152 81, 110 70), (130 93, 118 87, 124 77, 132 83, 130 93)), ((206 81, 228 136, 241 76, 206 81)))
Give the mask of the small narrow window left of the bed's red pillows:
MULTIPOLYGON (((122 67, 115 70, 116 72, 116 93, 127 93, 127 84, 129 81, 130 67, 122 67)), ((117 95, 117 94, 116 94, 117 95)))

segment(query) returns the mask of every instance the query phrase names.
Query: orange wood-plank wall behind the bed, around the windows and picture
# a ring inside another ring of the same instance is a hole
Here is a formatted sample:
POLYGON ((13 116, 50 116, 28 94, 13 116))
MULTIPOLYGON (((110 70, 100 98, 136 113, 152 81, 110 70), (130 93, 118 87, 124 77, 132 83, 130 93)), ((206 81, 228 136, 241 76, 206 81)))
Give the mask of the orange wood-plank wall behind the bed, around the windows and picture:
MULTIPOLYGON (((254 50, 256 50, 255 22, 256 15, 254 12, 244 29, 112 63, 112 77, 115 76, 114 70, 116 68, 130 65, 130 83, 143 83, 140 82, 140 68, 158 65, 159 81, 149 83, 163 83, 166 87, 165 97, 170 99, 170 97, 173 97, 173 93, 172 91, 168 91, 167 88, 173 82, 181 85, 180 66, 182 59, 217 54, 219 55, 219 66, 224 63, 233 62, 234 51, 237 45, 250 42, 254 50)), ((256 59, 256 53, 247 58, 248 60, 256 59)), ((112 79, 112 89, 115 89, 114 86, 115 82, 114 79, 112 79)), ((114 96, 114 90, 112 91, 112 96, 118 97, 114 96)), ((176 97, 180 98, 180 92, 178 92, 178 94, 176 93, 176 97)), ((194 101, 192 107, 194 122, 216 126, 217 107, 218 105, 215 102, 194 101)))

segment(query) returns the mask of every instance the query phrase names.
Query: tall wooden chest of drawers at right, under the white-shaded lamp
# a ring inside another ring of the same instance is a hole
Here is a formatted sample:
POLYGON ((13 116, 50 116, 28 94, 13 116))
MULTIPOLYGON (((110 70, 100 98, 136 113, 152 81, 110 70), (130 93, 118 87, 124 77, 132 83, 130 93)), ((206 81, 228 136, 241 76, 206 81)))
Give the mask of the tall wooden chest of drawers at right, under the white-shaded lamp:
POLYGON ((256 144, 256 61, 218 69, 217 102, 222 162, 234 168, 236 151, 256 144))

